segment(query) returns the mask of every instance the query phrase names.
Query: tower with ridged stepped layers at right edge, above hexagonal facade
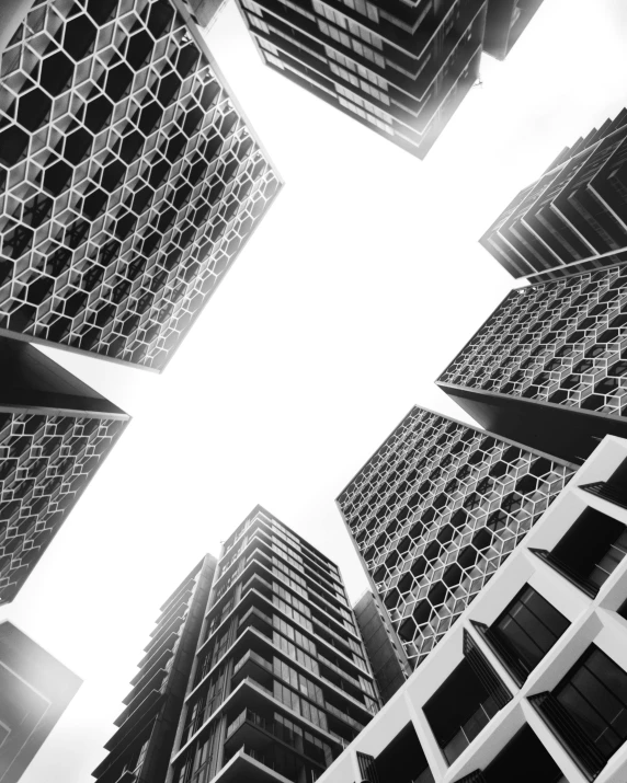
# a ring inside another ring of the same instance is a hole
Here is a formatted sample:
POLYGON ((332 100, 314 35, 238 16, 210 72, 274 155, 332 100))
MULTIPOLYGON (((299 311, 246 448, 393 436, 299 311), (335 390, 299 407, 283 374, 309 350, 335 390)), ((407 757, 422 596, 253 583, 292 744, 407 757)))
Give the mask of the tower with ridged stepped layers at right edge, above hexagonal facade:
POLYGON ((483 247, 511 275, 532 281, 626 261, 626 139, 623 110, 521 191, 481 238, 483 247))

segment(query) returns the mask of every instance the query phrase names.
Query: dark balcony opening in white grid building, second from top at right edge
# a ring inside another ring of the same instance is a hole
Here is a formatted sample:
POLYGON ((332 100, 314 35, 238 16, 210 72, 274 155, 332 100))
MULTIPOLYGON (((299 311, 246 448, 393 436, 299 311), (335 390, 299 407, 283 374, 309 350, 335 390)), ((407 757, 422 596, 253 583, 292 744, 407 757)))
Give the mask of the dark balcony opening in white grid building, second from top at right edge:
POLYGON ((586 508, 551 552, 532 552, 595 598, 627 554, 627 527, 595 508, 586 508))

